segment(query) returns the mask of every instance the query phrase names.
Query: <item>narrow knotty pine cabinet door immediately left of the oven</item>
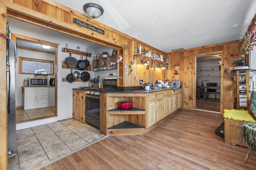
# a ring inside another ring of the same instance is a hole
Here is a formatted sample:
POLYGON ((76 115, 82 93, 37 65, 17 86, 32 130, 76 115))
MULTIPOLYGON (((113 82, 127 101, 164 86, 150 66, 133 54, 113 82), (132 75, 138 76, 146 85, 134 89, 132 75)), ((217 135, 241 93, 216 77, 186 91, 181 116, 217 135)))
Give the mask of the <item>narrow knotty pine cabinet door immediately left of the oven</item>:
POLYGON ((85 96, 84 92, 77 93, 77 110, 78 110, 78 121, 85 123, 85 96))

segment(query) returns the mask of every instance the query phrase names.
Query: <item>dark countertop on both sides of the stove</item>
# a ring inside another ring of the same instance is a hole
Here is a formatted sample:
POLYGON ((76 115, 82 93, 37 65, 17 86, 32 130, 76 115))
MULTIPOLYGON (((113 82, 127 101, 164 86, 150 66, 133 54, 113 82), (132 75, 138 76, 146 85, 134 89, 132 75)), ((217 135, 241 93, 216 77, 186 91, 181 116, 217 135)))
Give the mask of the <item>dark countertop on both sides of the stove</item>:
MULTIPOLYGON (((73 89, 86 90, 83 88, 73 88, 73 89)), ((178 90, 178 89, 176 89, 176 88, 161 88, 161 89, 153 89, 153 90, 145 90, 145 89, 125 90, 125 91, 113 90, 113 91, 101 91, 100 93, 154 93, 154 92, 161 92, 161 91, 166 91, 166 90, 178 90)))

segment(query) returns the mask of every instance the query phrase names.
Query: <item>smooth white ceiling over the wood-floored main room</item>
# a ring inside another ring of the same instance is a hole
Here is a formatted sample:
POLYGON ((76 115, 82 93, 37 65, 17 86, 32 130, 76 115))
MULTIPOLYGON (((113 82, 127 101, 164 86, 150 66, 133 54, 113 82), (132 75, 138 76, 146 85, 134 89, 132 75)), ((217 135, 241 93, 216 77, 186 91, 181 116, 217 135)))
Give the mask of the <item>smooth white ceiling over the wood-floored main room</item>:
POLYGON ((92 2, 104 8, 95 20, 166 53, 240 39, 256 0, 55 0, 87 15, 92 2))

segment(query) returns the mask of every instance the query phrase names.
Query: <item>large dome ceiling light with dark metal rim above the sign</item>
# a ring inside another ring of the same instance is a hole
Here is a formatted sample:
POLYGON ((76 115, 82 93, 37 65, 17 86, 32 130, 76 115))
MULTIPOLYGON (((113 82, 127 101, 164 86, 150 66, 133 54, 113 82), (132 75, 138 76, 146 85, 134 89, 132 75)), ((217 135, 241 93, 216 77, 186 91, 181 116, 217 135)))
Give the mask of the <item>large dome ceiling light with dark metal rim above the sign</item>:
POLYGON ((83 6, 84 11, 90 18, 99 18, 103 13, 104 10, 101 6, 94 3, 87 3, 83 6))

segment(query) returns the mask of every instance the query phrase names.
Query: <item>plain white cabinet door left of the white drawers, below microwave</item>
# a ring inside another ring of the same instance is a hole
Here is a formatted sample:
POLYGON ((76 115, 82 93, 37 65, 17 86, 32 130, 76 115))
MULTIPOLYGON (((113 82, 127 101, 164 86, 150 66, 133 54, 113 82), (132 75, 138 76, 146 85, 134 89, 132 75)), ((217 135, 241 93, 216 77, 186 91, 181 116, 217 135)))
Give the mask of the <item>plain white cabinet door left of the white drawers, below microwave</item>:
POLYGON ((36 109, 37 107, 37 88, 24 88, 24 110, 36 109))

